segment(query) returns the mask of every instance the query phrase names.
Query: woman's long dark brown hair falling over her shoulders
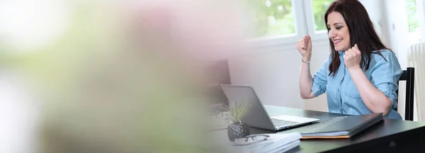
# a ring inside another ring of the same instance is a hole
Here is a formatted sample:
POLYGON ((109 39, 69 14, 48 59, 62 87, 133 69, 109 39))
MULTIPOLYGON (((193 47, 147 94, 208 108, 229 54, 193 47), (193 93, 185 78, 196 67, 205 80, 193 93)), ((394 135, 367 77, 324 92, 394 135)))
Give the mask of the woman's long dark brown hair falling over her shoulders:
MULTIPOLYGON (((351 46, 357 44, 358 50, 361 51, 362 60, 360 64, 364 70, 369 69, 372 54, 378 54, 382 56, 380 50, 390 50, 388 47, 385 47, 378 34, 376 34, 375 28, 373 28, 373 23, 370 21, 368 11, 366 11, 365 7, 358 0, 334 1, 329 6, 326 13, 324 13, 325 25, 327 25, 328 14, 333 11, 341 13, 341 15, 344 17, 344 21, 348 27, 348 32, 350 33, 350 44, 351 46)), ((335 76, 341 61, 339 60, 339 52, 336 52, 334 43, 331 38, 329 38, 329 44, 331 46, 332 54, 331 64, 329 64, 329 76, 331 74, 335 76)))

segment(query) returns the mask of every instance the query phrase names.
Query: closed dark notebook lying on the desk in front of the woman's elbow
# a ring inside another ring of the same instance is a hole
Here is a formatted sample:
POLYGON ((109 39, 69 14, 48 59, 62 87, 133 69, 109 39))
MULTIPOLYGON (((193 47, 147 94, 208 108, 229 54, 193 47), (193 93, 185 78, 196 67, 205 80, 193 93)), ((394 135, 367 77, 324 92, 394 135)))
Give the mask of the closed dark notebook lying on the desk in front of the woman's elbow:
POLYGON ((382 113, 334 117, 306 128, 301 139, 350 138, 382 120, 382 113))

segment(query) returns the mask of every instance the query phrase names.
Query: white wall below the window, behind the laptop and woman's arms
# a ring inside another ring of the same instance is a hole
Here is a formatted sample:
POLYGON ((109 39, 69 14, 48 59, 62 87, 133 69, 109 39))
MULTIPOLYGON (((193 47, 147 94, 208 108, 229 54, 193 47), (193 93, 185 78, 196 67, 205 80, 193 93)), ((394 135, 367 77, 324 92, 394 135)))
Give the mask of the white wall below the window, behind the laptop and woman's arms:
MULTIPOLYGON (((329 56, 329 42, 312 42, 312 74, 329 56)), ((232 84, 254 86, 263 103, 290 108, 327 111, 326 95, 314 100, 300 98, 301 55, 295 44, 264 47, 229 58, 232 84)))

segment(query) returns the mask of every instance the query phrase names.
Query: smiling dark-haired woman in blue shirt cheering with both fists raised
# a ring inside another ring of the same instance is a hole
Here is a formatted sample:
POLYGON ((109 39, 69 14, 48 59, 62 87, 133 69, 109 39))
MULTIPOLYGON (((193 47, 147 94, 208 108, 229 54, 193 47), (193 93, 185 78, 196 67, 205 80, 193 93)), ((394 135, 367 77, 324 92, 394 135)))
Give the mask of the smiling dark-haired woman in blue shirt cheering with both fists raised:
POLYGON ((314 98, 326 92, 331 113, 383 113, 386 118, 402 119, 395 111, 402 69, 395 53, 382 44, 363 5, 357 0, 334 1, 324 22, 331 55, 313 77, 310 36, 297 42, 302 55, 301 97, 314 98))

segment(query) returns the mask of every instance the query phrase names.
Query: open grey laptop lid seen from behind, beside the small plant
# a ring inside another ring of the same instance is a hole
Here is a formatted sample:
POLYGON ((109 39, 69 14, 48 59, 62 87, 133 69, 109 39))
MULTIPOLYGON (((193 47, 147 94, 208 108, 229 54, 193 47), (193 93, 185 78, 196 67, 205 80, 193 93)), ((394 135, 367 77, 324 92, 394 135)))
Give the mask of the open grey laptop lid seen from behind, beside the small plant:
POLYGON ((251 127, 264 128, 268 130, 276 130, 271 122, 270 116, 266 112, 263 104, 257 96, 252 86, 242 86, 233 84, 220 84, 230 103, 237 101, 248 102, 249 113, 242 122, 251 127))

